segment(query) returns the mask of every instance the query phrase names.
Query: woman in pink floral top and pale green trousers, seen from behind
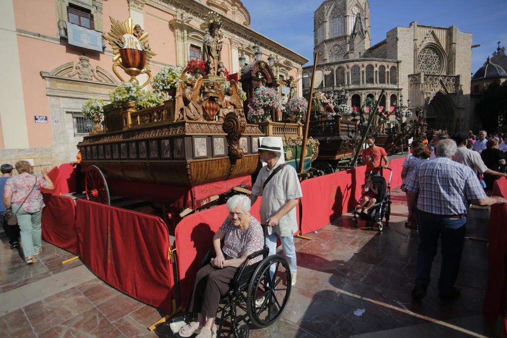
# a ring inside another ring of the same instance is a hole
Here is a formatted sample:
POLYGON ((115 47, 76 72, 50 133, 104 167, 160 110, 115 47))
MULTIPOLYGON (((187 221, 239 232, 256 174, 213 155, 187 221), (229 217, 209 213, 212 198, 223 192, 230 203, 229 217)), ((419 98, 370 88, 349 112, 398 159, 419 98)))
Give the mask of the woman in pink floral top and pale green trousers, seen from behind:
POLYGON ((44 178, 31 175, 28 161, 18 161, 16 170, 18 175, 5 183, 4 204, 18 217, 26 264, 32 264, 37 261, 35 255, 42 252, 41 216, 44 202, 41 187, 51 190, 54 186, 46 169, 42 169, 44 178))

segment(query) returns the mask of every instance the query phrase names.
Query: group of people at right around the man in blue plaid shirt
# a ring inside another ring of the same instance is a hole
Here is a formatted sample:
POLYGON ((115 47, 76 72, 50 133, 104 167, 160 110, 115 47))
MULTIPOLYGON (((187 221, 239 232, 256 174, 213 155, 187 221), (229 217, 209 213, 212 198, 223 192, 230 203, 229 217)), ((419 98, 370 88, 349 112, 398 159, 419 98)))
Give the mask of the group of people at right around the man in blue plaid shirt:
MULTIPOLYGON (((504 135, 504 138, 507 135, 504 135)), ((411 144, 411 155, 403 163, 403 190, 407 193, 406 227, 419 231, 417 276, 412 291, 414 299, 426 295, 438 240, 442 245, 442 268, 439 277, 441 299, 455 299, 459 289, 454 284, 459 272, 470 205, 490 206, 507 203, 490 197, 493 182, 505 173, 507 146, 499 137, 487 138, 485 131, 476 138, 471 131, 433 135, 432 146, 423 140, 411 144)))

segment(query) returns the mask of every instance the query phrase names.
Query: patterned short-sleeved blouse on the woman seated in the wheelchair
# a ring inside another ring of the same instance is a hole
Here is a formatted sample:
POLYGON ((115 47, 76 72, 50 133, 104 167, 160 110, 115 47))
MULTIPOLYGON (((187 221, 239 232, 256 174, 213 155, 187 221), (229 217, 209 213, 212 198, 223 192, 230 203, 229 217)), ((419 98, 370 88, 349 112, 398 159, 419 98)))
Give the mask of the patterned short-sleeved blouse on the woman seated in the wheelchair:
MULTIPOLYGON (((253 253, 262 250, 264 247, 264 233, 261 223, 257 218, 250 215, 250 226, 244 230, 239 230, 231 219, 227 217, 220 230, 224 233, 224 248, 222 251, 232 258, 240 258, 245 253, 253 253)), ((262 256, 253 258, 250 264, 262 260, 262 256)))

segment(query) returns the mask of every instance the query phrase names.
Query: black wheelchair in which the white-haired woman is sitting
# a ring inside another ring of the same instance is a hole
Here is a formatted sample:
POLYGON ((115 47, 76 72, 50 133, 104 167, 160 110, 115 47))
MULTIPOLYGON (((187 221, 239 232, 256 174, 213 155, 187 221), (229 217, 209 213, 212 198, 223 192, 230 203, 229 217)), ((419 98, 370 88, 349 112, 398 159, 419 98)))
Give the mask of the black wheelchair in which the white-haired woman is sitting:
MULTIPOLYGON (((263 224, 262 227, 266 239, 267 225, 263 224)), ((236 338, 247 338, 250 334, 250 326, 268 327, 283 314, 291 295, 291 270, 285 258, 277 254, 272 256, 268 254, 269 248, 264 244, 262 250, 248 255, 236 270, 229 290, 220 301, 215 318, 215 325, 217 325, 216 321, 219 321, 217 337, 221 336, 226 319, 229 317, 231 318, 230 335, 236 338), (252 259, 261 255, 263 257, 261 261, 249 265, 252 259), (274 266, 273 277, 270 274, 272 266, 274 266)), ((211 247, 202 260, 200 268, 208 264, 213 256, 214 250, 211 247)), ((190 303, 187 309, 189 307, 190 303)))

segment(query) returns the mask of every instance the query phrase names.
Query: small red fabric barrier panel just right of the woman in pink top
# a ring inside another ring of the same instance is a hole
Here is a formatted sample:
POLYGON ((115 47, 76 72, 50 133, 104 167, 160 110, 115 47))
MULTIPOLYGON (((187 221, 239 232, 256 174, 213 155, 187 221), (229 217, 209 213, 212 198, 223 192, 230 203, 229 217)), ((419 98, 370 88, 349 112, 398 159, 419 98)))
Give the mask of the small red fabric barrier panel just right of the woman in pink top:
POLYGON ((49 193, 42 196, 46 204, 42 211, 42 237, 46 242, 79 255, 73 199, 49 193))

